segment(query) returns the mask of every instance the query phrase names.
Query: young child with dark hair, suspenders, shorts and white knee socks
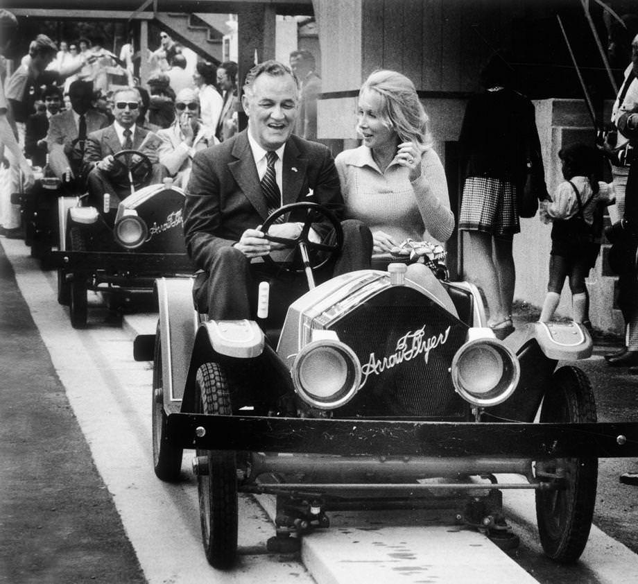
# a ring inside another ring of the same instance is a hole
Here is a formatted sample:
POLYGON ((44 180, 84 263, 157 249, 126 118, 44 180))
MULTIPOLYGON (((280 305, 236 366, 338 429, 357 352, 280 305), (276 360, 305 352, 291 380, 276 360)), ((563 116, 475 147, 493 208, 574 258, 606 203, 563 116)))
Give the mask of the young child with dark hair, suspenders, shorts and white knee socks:
POLYGON ((601 207, 615 203, 612 184, 598 181, 599 154, 585 144, 562 148, 565 182, 558 185, 552 200, 540 203, 540 217, 551 228, 549 283, 540 321, 551 320, 566 276, 571 289, 572 318, 583 323, 587 315, 585 278, 596 263, 603 225, 595 221, 601 207))

